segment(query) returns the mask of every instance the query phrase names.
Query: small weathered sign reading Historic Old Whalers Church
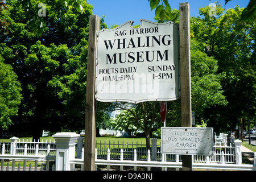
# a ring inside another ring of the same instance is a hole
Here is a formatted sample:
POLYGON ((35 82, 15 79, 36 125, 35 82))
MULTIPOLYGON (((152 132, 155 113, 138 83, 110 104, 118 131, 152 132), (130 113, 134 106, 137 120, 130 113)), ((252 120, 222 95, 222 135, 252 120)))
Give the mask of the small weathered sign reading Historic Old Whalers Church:
POLYGON ((212 155, 213 129, 196 127, 161 127, 162 153, 212 155))

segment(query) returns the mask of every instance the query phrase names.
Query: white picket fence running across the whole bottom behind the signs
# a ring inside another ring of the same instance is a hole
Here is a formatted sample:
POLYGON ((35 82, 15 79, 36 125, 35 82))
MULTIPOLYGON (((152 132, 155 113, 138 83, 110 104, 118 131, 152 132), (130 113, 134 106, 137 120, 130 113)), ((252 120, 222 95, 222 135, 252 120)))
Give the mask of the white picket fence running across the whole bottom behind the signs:
MULTIPOLYGON (((83 139, 81 137, 77 137, 76 139, 77 149, 75 149, 75 147, 68 148, 70 145, 68 143, 69 140, 67 140, 66 146, 68 149, 66 150, 63 148, 63 140, 60 138, 57 140, 57 142, 55 142, 55 140, 32 142, 31 140, 24 141, 18 140, 18 138, 15 137, 11 138, 11 143, 9 144, 0 143, 1 171, 30 169, 48 171, 54 170, 55 168, 61 169, 58 162, 58 157, 61 156, 61 152, 71 155, 69 158, 67 158, 69 159, 68 162, 64 162, 69 166, 68 169, 83 169, 83 139), (62 143, 58 143, 58 141, 62 143), (68 152, 68 150, 74 151, 68 152), (7 161, 6 165, 4 164, 5 161, 7 161), (15 162, 17 161, 19 164, 15 167, 15 162), (26 165, 30 161, 34 163, 34 168, 26 165), (11 167, 9 163, 11 163, 11 167)), ((164 155, 161 154, 160 151, 154 150, 147 151, 146 154, 144 154, 145 146, 138 143, 132 143, 133 146, 129 146, 129 143, 100 142, 100 145, 98 143, 96 144, 98 146, 95 154, 96 167, 103 165, 106 166, 107 169, 110 169, 111 166, 120 166, 120 169, 122 170, 123 166, 133 166, 134 170, 136 170, 137 167, 146 167, 150 170, 151 167, 160 167, 162 169, 166 169, 181 168, 182 165, 180 155, 164 155), (101 151, 98 151, 98 149, 101 151), (154 154, 157 156, 156 158, 152 157, 154 152, 156 153, 154 154)), ((154 147, 152 146, 152 148, 154 147)), ((157 147, 155 146, 155 148, 157 147)), ((254 165, 242 164, 241 142, 239 140, 236 140, 235 142, 233 141, 233 145, 230 146, 225 146, 218 143, 218 146, 214 146, 214 151, 212 154, 212 156, 194 155, 193 168, 256 170, 256 152, 254 154, 254 165)))

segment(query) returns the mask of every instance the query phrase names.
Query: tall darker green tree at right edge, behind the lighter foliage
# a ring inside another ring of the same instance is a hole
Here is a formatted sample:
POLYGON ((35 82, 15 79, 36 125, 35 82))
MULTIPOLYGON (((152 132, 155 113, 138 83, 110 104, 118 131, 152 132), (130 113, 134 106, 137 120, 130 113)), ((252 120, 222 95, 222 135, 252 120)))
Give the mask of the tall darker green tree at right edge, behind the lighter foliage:
POLYGON ((238 6, 225 11, 218 5, 217 16, 208 12, 209 7, 200 9, 204 18, 193 19, 192 34, 201 50, 218 61, 218 73, 225 73, 221 85, 228 105, 212 106, 204 117, 209 126, 226 131, 240 125, 240 118, 255 118, 255 22, 243 22, 238 6))

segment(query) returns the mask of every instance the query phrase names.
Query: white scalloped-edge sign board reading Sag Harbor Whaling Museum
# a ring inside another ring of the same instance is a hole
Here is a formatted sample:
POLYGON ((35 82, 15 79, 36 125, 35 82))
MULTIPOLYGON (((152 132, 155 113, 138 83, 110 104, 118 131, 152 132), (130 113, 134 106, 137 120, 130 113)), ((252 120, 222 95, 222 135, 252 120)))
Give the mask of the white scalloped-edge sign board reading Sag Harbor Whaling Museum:
POLYGON ((101 102, 180 97, 179 24, 133 21, 97 32, 95 97, 101 102))

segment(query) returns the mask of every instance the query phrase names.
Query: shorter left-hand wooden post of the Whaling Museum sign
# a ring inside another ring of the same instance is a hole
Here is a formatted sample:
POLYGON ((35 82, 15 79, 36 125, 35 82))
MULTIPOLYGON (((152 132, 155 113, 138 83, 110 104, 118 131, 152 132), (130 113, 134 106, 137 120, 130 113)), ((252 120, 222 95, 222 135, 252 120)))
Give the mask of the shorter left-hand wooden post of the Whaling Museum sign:
POLYGON ((96 147, 96 100, 94 97, 97 42, 96 32, 100 30, 100 17, 97 15, 91 15, 89 21, 90 24, 85 104, 84 170, 94 171, 96 147))

